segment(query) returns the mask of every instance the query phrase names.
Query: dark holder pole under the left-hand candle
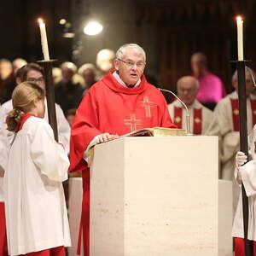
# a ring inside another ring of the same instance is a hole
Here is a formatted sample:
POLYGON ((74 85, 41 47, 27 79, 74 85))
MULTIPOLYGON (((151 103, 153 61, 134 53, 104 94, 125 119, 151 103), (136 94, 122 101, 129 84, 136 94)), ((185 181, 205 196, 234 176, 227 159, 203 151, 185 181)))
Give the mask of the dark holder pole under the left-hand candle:
POLYGON ((37 62, 44 67, 44 81, 45 81, 49 125, 54 131, 55 141, 58 142, 58 128, 57 128, 57 119, 56 119, 56 111, 55 111, 55 85, 53 83, 53 77, 52 77, 52 66, 53 66, 53 62, 55 61, 57 60, 37 61, 37 62))

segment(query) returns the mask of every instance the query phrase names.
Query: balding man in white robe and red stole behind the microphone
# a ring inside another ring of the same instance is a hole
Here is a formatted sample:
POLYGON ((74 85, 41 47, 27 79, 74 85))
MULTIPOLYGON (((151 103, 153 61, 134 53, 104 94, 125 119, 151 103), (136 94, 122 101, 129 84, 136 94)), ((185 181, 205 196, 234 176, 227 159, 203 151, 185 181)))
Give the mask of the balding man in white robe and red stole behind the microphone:
MULTIPOLYGON (((177 96, 189 108, 190 128, 195 135, 207 134, 213 116, 211 110, 195 99, 198 89, 199 82, 194 77, 185 76, 177 80, 177 96)), ((168 105, 168 110, 177 128, 186 129, 186 109, 183 105, 175 100, 168 105)))

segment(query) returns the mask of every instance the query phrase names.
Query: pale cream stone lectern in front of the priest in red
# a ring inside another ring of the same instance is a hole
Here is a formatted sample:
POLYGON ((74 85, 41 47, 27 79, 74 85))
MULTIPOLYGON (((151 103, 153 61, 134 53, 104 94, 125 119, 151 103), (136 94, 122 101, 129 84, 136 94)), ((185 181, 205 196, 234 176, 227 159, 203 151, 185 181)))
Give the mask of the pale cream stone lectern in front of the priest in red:
POLYGON ((218 137, 120 138, 90 172, 90 255, 218 255, 218 137))

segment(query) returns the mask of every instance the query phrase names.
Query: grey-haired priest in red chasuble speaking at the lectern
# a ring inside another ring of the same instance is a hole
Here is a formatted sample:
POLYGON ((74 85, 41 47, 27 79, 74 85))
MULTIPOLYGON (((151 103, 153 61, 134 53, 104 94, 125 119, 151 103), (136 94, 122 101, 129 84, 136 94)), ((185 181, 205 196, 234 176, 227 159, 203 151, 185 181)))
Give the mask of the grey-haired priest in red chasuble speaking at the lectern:
POLYGON ((84 240, 85 256, 89 256, 90 245, 87 149, 137 129, 176 127, 172 124, 164 96, 154 85, 148 84, 143 75, 146 65, 144 50, 137 44, 125 44, 118 49, 113 63, 114 69, 92 85, 84 96, 71 131, 70 171, 82 170, 83 176, 80 237, 84 240))

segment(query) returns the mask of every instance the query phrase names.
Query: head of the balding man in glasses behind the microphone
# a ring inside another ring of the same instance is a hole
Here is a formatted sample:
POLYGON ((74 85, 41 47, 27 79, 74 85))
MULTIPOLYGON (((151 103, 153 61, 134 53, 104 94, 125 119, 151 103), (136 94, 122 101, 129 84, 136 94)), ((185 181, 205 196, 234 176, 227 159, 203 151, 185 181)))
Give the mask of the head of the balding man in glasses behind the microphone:
POLYGON ((199 82, 194 77, 185 76, 177 80, 177 96, 188 106, 195 101, 198 89, 199 82))

